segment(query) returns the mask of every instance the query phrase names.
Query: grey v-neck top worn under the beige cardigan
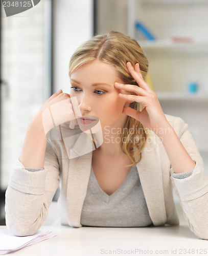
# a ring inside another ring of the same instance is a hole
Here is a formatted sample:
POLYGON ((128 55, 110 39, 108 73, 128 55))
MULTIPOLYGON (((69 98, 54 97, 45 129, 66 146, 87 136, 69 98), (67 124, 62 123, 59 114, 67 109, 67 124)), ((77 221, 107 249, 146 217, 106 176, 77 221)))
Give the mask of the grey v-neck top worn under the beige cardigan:
POLYGON ((110 196, 98 184, 91 167, 80 223, 97 227, 144 227, 152 224, 135 165, 110 196))

